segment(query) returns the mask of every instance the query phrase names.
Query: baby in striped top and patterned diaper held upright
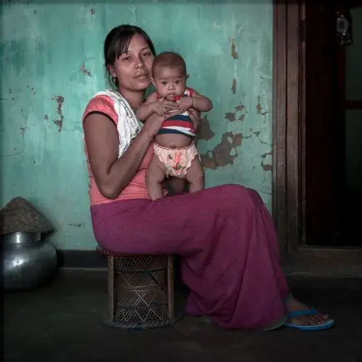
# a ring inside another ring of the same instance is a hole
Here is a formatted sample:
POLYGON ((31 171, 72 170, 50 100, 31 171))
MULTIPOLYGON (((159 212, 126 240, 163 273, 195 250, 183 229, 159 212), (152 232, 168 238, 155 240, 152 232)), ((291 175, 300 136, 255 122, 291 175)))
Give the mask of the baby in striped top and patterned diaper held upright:
POLYGON ((165 177, 178 177, 190 182, 190 192, 204 189, 204 171, 197 152, 195 138, 197 125, 193 124, 188 109, 208 112, 212 102, 186 87, 189 77, 185 60, 171 52, 161 53, 152 66, 151 82, 156 92, 151 93, 137 109, 138 119, 145 121, 155 113, 166 119, 155 136, 153 159, 146 173, 146 185, 150 199, 163 197, 162 183, 165 177), (164 99, 177 102, 177 110, 163 104, 164 99), (173 113, 172 113, 173 112, 173 113))

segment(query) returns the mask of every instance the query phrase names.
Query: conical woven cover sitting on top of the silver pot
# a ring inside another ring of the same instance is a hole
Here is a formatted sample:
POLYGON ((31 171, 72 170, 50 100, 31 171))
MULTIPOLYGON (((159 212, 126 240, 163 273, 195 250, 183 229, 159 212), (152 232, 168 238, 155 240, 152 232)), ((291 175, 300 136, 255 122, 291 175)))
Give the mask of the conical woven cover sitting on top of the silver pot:
POLYGON ((16 231, 45 233, 53 230, 44 216, 22 197, 12 199, 0 212, 0 234, 16 231))

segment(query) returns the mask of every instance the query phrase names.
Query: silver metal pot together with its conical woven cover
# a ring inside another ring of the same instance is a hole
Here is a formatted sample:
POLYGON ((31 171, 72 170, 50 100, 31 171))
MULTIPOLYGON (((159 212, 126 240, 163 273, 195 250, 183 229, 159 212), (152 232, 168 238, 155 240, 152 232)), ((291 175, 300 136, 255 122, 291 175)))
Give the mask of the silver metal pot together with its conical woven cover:
POLYGON ((45 283, 57 268, 57 252, 43 241, 53 226, 33 204, 22 197, 12 199, 0 212, 5 290, 27 290, 45 283))

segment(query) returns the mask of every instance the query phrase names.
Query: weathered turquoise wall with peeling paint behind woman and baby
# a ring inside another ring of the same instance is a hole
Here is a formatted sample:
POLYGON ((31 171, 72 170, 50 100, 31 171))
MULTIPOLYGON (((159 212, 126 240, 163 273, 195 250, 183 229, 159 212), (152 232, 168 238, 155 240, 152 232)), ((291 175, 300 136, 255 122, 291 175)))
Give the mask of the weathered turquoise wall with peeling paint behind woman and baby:
POLYGON ((94 248, 80 119, 104 88, 106 33, 134 23, 181 53, 190 87, 214 103, 199 141, 207 187, 253 187, 270 209, 272 0, 119 3, 1 5, 1 207, 24 197, 57 248, 94 248))

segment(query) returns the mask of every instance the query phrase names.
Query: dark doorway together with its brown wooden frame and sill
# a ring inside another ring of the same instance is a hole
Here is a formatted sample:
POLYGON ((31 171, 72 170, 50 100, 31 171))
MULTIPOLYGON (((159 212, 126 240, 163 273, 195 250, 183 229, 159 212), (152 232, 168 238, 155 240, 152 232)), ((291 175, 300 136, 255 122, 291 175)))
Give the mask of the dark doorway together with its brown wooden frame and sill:
MULTIPOLYGON (((348 118, 361 102, 348 98, 346 79, 353 68, 347 51, 360 44, 362 32, 353 24, 353 45, 339 45, 337 10, 274 2, 273 218, 286 273, 360 278, 362 190, 348 195, 346 168, 352 167, 347 153, 361 156, 362 135, 350 130, 348 118)), ((360 75, 352 77, 358 90, 360 75)), ((361 163, 354 164, 353 181, 361 163)))

